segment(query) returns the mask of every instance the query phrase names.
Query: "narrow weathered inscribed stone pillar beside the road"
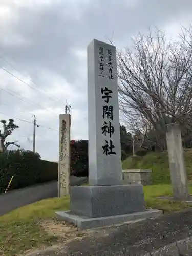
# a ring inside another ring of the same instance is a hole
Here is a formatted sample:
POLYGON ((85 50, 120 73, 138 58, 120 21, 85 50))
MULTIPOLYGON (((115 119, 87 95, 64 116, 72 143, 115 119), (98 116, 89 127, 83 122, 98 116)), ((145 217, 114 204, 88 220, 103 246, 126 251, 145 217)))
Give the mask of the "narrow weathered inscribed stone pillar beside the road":
POLYGON ((59 115, 58 197, 69 194, 70 189, 70 114, 59 115))

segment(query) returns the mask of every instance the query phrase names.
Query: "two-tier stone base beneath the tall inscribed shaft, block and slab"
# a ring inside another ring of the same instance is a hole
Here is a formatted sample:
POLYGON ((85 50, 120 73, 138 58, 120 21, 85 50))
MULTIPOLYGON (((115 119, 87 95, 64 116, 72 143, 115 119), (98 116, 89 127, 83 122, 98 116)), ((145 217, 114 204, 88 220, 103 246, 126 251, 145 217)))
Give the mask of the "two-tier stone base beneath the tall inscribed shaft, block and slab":
POLYGON ((56 215, 80 229, 110 226, 161 214, 159 210, 145 209, 142 185, 71 187, 70 200, 70 211, 56 212, 56 215))

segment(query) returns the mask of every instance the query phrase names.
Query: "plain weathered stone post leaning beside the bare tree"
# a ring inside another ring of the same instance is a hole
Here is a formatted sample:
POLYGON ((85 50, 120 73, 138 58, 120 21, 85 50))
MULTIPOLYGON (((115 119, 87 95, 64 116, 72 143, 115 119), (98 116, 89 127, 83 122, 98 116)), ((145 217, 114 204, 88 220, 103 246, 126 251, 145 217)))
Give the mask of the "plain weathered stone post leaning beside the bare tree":
POLYGON ((181 130, 178 124, 167 125, 166 141, 174 198, 189 200, 181 130))

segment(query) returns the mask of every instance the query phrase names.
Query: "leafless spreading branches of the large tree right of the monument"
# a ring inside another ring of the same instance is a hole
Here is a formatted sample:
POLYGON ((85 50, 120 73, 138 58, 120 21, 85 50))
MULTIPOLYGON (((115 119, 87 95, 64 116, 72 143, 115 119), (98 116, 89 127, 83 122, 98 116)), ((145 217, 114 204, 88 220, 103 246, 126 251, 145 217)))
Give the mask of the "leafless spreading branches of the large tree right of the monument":
POLYGON ((167 43, 156 29, 134 38, 132 51, 117 53, 120 109, 139 129, 153 127, 161 149, 165 124, 192 127, 192 51, 185 35, 167 43))

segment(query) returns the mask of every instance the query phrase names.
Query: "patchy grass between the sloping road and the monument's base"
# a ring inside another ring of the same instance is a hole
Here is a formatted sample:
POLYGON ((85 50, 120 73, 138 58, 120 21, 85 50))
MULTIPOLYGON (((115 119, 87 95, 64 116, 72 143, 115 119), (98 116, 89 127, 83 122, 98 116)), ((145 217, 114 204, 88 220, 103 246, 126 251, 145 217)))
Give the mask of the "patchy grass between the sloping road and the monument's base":
POLYGON ((42 230, 39 223, 53 218, 55 211, 67 209, 69 197, 53 198, 0 216, 0 255, 15 256, 31 248, 56 243, 58 238, 42 230))

